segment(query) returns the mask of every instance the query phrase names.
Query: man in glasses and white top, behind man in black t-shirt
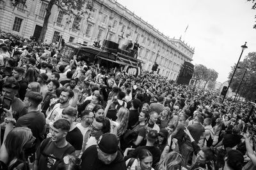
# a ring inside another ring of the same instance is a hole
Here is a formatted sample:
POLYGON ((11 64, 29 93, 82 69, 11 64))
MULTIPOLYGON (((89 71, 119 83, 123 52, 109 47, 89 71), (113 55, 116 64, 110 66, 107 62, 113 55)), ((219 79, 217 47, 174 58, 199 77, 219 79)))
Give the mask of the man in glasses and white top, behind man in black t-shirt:
MULTIPOLYGON (((84 110, 82 113, 81 113, 81 123, 78 123, 76 125, 76 127, 78 127, 78 129, 81 131, 81 133, 83 134, 83 146, 82 146, 82 150, 84 151, 85 150, 85 146, 86 146, 86 143, 85 143, 85 134, 87 131, 91 131, 91 127, 90 125, 92 125, 92 122, 93 122, 93 118, 94 118, 94 114, 92 111, 90 110, 84 110)), ((83 152, 80 152, 80 156, 81 157, 83 154, 83 152)))

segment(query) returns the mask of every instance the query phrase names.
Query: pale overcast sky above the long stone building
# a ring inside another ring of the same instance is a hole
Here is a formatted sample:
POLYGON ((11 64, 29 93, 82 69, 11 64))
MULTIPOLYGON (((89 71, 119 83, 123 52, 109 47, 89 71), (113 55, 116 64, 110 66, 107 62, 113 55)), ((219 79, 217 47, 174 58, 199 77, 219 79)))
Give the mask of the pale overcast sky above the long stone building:
POLYGON ((215 69, 221 83, 228 80, 245 41, 248 48, 241 60, 256 52, 256 10, 246 0, 117 1, 164 35, 182 36, 182 41, 195 47, 192 63, 215 69))

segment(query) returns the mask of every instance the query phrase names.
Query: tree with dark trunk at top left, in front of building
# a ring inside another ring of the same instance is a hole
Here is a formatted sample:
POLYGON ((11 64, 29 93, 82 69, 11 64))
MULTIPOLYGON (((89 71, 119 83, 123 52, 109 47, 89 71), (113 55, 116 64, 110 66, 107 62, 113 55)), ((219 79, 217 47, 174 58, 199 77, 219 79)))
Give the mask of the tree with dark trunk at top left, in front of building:
MULTIPOLYGON (((13 6, 17 6, 18 4, 26 4, 26 0, 10 0, 10 1, 12 1, 13 6)), ((89 10, 89 11, 93 10, 92 0, 41 0, 41 1, 48 3, 45 17, 44 17, 44 24, 38 40, 41 43, 43 43, 45 39, 49 18, 51 16, 52 6, 54 5, 58 6, 58 8, 60 8, 60 10, 63 11, 66 15, 74 15, 75 17, 79 18, 78 21, 81 20, 84 13, 88 13, 88 11, 86 10, 89 10)))

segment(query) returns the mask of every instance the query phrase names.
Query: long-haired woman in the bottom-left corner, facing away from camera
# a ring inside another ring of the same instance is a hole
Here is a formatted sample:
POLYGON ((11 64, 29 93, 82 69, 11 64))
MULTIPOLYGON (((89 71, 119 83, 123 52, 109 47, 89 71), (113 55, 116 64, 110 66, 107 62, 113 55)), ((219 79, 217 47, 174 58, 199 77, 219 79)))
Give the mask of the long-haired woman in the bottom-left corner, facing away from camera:
POLYGON ((28 127, 16 127, 8 133, 0 150, 0 162, 8 169, 29 169, 26 163, 25 150, 31 148, 35 141, 28 127))

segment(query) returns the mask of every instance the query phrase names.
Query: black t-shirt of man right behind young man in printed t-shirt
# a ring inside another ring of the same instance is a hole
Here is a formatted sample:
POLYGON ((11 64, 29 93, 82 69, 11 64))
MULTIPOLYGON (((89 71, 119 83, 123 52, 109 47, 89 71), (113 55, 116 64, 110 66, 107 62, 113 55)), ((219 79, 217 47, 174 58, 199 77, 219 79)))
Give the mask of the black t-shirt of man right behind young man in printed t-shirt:
POLYGON ((76 150, 82 150, 83 146, 83 134, 76 127, 72 131, 68 132, 66 140, 70 143, 76 150))

